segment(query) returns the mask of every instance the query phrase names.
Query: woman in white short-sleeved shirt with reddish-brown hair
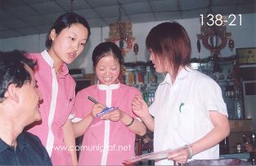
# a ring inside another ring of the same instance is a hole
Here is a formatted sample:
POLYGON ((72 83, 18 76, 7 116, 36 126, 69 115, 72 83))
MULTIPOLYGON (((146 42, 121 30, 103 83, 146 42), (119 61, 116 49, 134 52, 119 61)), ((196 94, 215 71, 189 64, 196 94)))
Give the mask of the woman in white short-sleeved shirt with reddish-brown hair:
POLYGON ((134 98, 132 110, 154 131, 155 151, 186 147, 155 164, 218 159, 218 143, 230 132, 227 106, 218 83, 191 69, 186 30, 177 22, 156 25, 146 37, 146 47, 156 72, 166 76, 152 105, 148 108, 145 101, 134 98))

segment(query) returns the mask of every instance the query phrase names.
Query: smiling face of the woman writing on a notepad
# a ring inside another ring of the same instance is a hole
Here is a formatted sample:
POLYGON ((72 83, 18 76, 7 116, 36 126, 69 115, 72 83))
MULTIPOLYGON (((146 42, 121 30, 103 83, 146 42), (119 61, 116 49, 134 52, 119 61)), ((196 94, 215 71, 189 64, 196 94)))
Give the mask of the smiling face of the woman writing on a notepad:
POLYGON ((119 82, 120 64, 112 53, 103 56, 100 61, 97 62, 95 70, 101 84, 110 85, 119 82))

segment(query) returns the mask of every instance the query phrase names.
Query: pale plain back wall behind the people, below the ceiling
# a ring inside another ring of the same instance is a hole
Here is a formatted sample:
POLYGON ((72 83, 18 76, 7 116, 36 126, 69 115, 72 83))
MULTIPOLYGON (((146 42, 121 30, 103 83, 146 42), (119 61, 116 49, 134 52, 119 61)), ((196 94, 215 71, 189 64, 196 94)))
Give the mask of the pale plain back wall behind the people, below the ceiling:
MULTIPOLYGON (((236 18, 237 19, 237 18, 236 18)), ((155 25, 164 22, 147 22, 132 25, 133 37, 137 39, 139 52, 137 61, 147 61, 149 59, 146 52, 145 39, 150 29, 155 25)), ((200 55, 196 48, 196 34, 200 34, 199 18, 177 20, 183 25, 191 38, 192 57, 208 57, 209 50, 201 44, 200 55)), ((228 47, 221 51, 221 56, 231 56, 236 54, 236 47, 256 47, 256 14, 243 14, 242 25, 229 26, 227 32, 231 32, 231 37, 235 41, 235 48, 231 52, 228 47)), ((84 68, 86 73, 92 73, 92 51, 97 44, 105 41, 109 37, 109 27, 92 28, 92 34, 88 40, 82 55, 77 58, 70 68, 84 68)), ((0 40, 0 50, 11 51, 13 49, 21 49, 27 52, 42 52, 44 49, 46 34, 35 34, 18 38, 5 38, 0 40)), ((124 57, 125 62, 135 61, 134 52, 132 50, 124 57)))

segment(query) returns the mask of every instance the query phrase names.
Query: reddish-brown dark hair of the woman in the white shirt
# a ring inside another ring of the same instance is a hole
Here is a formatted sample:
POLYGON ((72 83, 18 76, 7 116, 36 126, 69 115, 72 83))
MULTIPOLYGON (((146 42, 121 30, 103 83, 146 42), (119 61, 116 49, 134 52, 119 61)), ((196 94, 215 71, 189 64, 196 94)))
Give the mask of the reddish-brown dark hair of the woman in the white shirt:
POLYGON ((150 30, 146 37, 147 49, 152 49, 161 62, 173 66, 176 78, 180 66, 188 66, 191 58, 191 41, 186 30, 177 22, 164 22, 150 30))

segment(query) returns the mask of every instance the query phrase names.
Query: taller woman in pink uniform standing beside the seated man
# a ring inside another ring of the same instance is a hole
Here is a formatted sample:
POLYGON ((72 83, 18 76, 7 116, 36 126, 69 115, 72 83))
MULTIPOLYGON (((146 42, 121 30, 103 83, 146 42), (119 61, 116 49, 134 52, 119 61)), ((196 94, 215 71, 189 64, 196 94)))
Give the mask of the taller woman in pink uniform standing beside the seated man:
POLYGON ((83 52, 89 35, 87 20, 75 13, 65 13, 47 34, 47 50, 28 55, 38 61, 35 78, 43 98, 42 121, 30 126, 29 132, 41 139, 54 165, 78 164, 71 123, 75 82, 66 64, 83 52))

